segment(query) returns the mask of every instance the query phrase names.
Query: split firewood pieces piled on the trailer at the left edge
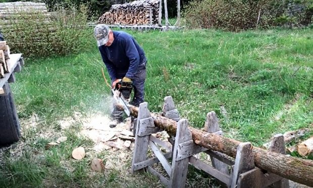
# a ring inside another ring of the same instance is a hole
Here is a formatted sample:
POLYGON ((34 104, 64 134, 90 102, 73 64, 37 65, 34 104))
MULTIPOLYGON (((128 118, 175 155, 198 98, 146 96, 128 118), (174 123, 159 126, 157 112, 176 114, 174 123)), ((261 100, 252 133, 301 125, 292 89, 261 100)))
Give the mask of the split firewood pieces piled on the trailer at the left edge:
POLYGON ((0 78, 4 78, 5 73, 10 72, 10 65, 8 59, 10 55, 10 48, 6 41, 0 41, 0 78))

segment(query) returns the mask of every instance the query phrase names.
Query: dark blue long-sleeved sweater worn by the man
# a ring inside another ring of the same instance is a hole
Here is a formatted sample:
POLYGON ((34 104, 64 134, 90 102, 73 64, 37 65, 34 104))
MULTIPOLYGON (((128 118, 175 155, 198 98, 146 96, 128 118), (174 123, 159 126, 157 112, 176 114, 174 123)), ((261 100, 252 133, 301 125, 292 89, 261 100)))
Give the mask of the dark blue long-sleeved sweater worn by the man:
POLYGON ((130 34, 124 31, 113 31, 113 35, 114 41, 111 46, 99 46, 111 81, 124 76, 133 79, 139 65, 146 61, 144 51, 130 34))

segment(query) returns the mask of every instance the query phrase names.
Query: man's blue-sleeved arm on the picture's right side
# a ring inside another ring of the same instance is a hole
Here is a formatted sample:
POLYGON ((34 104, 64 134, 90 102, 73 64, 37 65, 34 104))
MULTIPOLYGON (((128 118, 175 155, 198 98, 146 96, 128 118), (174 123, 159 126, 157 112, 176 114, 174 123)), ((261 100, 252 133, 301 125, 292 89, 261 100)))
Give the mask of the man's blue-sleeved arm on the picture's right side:
POLYGON ((129 58, 129 68, 126 77, 134 79, 134 76, 138 71, 140 57, 132 38, 126 40, 125 52, 126 56, 129 58))

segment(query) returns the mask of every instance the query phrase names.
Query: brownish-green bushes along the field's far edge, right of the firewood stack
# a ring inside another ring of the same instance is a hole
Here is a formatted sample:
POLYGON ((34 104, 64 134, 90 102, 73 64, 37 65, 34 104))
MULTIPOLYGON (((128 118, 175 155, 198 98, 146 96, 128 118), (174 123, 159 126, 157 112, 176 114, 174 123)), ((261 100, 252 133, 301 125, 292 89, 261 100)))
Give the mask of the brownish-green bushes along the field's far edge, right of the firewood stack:
MULTIPOLYGON (((296 0, 294 0, 296 1, 296 0)), ((292 2, 294 2, 292 1, 292 2)), ((297 1, 298 2, 298 1, 297 1)), ((275 0, 203 0, 186 6, 183 17, 192 28, 218 28, 230 31, 266 28, 290 22, 311 23, 312 0, 303 0, 301 14, 288 12, 289 1, 275 0), (305 1, 305 3, 304 3, 305 1), (301 16, 299 16, 301 15, 301 16), (296 19, 295 19, 296 18, 296 19)), ((293 24, 293 26, 296 24, 293 24)), ((298 24, 299 25, 299 24, 298 24)))

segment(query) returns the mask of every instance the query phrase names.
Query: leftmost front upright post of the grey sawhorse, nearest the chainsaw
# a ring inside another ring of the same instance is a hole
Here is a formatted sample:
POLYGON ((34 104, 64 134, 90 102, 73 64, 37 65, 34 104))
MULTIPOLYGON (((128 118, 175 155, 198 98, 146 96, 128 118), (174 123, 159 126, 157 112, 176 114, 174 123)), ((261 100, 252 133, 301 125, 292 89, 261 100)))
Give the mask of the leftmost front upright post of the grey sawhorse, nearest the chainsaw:
POLYGON ((137 112, 137 123, 136 123, 136 136, 135 136, 135 149, 133 152, 132 159, 132 173, 135 173, 134 164, 145 161, 147 159, 147 151, 148 151, 148 143, 149 143, 149 135, 140 137, 138 135, 139 121, 144 118, 151 117, 150 112, 148 110, 148 103, 143 102, 139 104, 138 112, 137 112))

